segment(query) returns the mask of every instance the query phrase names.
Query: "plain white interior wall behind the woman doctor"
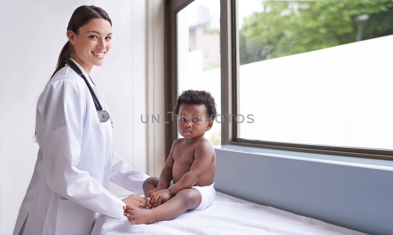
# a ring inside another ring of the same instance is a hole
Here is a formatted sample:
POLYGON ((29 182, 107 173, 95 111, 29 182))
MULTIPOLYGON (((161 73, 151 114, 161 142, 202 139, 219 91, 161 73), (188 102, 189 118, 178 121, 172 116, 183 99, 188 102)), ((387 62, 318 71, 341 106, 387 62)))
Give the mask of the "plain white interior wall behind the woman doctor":
MULTIPOLYGON (((114 149, 146 172, 146 5, 144 1, 7 1, 2 4, 0 234, 11 234, 33 172, 37 98, 53 73, 75 8, 96 5, 112 20, 112 48, 91 77, 105 91, 114 149), (5 5, 4 5, 5 4, 5 5)), ((110 185, 115 195, 128 193, 110 185)))

